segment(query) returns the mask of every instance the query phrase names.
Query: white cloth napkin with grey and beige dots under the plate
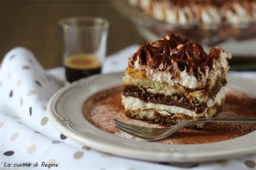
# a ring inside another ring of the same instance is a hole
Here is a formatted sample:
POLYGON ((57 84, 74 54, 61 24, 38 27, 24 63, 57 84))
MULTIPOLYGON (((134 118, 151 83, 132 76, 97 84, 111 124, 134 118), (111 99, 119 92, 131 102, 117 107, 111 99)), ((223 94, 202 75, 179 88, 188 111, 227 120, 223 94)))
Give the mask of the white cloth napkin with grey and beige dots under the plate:
MULTIPOLYGON (((137 49, 138 46, 133 45, 106 58, 103 73, 124 70, 127 56, 137 49)), ((248 74, 255 78, 255 73, 248 74)), ((255 166, 255 155, 202 164, 156 164, 100 153, 66 138, 52 126, 46 115, 50 97, 64 84, 64 69, 45 71, 26 48, 16 47, 5 55, 0 80, 1 167, 14 168, 29 163, 33 168, 38 163, 35 167, 38 168, 42 162, 58 164, 62 169, 179 169, 189 166, 197 169, 250 169, 255 166)))

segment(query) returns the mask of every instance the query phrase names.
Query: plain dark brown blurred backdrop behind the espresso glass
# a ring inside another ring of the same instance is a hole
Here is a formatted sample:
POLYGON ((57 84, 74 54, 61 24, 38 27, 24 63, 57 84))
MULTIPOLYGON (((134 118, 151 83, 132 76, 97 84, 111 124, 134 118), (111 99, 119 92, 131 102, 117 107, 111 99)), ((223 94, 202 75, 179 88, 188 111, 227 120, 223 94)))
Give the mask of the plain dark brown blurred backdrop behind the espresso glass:
POLYGON ((131 44, 143 44, 129 19, 113 9, 123 0, 0 0, 0 60, 15 46, 29 48, 44 68, 63 65, 58 20, 95 16, 109 20, 107 54, 131 44))

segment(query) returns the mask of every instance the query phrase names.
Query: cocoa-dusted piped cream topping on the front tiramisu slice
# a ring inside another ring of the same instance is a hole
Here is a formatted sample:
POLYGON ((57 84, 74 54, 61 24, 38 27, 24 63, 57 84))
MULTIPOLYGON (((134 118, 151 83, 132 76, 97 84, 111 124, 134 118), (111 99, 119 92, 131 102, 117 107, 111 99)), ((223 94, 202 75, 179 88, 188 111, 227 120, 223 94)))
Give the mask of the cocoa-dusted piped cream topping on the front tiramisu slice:
POLYGON ((200 89, 207 80, 214 82, 226 73, 231 54, 212 48, 207 55, 203 47, 173 34, 140 47, 129 58, 129 66, 146 70, 153 81, 180 85, 188 89, 200 89))

